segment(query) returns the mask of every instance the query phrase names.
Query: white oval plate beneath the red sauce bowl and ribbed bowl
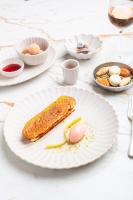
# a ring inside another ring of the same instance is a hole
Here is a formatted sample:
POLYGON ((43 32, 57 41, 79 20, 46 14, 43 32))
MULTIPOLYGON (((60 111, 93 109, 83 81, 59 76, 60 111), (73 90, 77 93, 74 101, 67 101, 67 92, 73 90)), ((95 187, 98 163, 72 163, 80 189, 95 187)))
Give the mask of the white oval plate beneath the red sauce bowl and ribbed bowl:
MULTIPOLYGON (((12 51, 1 52, 0 62, 3 59, 6 59, 8 57, 9 58, 14 57, 14 56, 17 57, 15 52, 12 52, 12 51)), ((0 86, 16 85, 16 84, 28 81, 28 80, 42 74, 47 69, 52 67, 52 65, 55 62, 55 59, 56 59, 55 50, 54 50, 54 48, 50 47, 48 57, 47 57, 46 62, 44 64, 37 65, 37 66, 26 66, 25 65, 23 73, 21 73, 19 76, 14 77, 14 78, 7 78, 7 77, 3 77, 3 76, 0 75, 0 86)))

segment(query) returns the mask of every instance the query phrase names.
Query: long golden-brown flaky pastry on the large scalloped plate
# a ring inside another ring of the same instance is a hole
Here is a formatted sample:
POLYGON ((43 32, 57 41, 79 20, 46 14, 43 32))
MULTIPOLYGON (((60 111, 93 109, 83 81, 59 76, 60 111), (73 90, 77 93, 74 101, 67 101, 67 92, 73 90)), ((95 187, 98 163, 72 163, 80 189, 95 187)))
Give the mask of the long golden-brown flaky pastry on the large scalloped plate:
POLYGON ((60 96, 24 126, 23 138, 36 141, 75 110, 76 101, 70 96, 60 96))

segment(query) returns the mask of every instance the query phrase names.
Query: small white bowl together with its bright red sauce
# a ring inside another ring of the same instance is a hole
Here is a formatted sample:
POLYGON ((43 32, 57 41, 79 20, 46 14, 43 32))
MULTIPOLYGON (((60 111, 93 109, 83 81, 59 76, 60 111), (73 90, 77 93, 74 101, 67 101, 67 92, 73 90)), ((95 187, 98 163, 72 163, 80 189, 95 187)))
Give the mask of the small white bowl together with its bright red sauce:
POLYGON ((6 77, 15 77, 22 73, 24 63, 18 58, 8 58, 0 63, 0 74, 6 77))

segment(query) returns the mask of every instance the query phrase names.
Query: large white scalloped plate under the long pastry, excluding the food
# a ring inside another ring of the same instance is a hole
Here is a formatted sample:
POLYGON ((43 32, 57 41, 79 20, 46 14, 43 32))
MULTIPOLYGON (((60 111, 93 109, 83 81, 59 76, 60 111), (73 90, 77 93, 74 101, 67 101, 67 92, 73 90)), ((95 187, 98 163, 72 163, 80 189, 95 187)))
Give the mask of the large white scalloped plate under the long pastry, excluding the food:
POLYGON ((25 98, 9 112, 4 126, 5 140, 18 157, 53 169, 80 167, 100 158, 112 147, 117 132, 118 121, 111 105, 96 94, 72 87, 51 88, 25 98), (22 128, 26 121, 61 95, 74 97, 76 110, 38 141, 25 144, 22 128), (66 124, 79 116, 93 128, 93 139, 85 139, 76 146, 66 144, 58 149, 45 149, 46 144, 60 142, 66 124))

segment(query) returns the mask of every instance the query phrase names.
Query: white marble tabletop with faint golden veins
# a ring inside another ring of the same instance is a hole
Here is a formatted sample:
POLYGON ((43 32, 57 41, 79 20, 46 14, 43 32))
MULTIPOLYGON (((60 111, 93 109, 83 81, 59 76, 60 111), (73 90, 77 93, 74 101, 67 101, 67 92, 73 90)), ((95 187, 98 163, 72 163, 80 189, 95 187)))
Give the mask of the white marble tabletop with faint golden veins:
POLYGON ((103 158, 79 169, 58 171, 34 167, 12 154, 5 144, 1 123, 0 199, 133 199, 133 160, 127 157, 130 134, 127 103, 133 89, 119 94, 107 93, 92 81, 92 71, 97 64, 110 60, 128 63, 133 57, 133 27, 123 36, 121 51, 117 52, 119 38, 114 34, 117 30, 108 22, 107 5, 107 0, 0 0, 1 51, 13 48, 19 39, 40 35, 50 40, 58 55, 53 68, 41 76, 0 88, 0 101, 16 102, 39 89, 58 85, 56 80, 61 76, 60 63, 64 59, 61 57, 63 39, 72 34, 93 33, 102 36, 103 49, 92 60, 80 62, 76 87, 103 95, 113 105, 120 124, 117 142, 103 158))

